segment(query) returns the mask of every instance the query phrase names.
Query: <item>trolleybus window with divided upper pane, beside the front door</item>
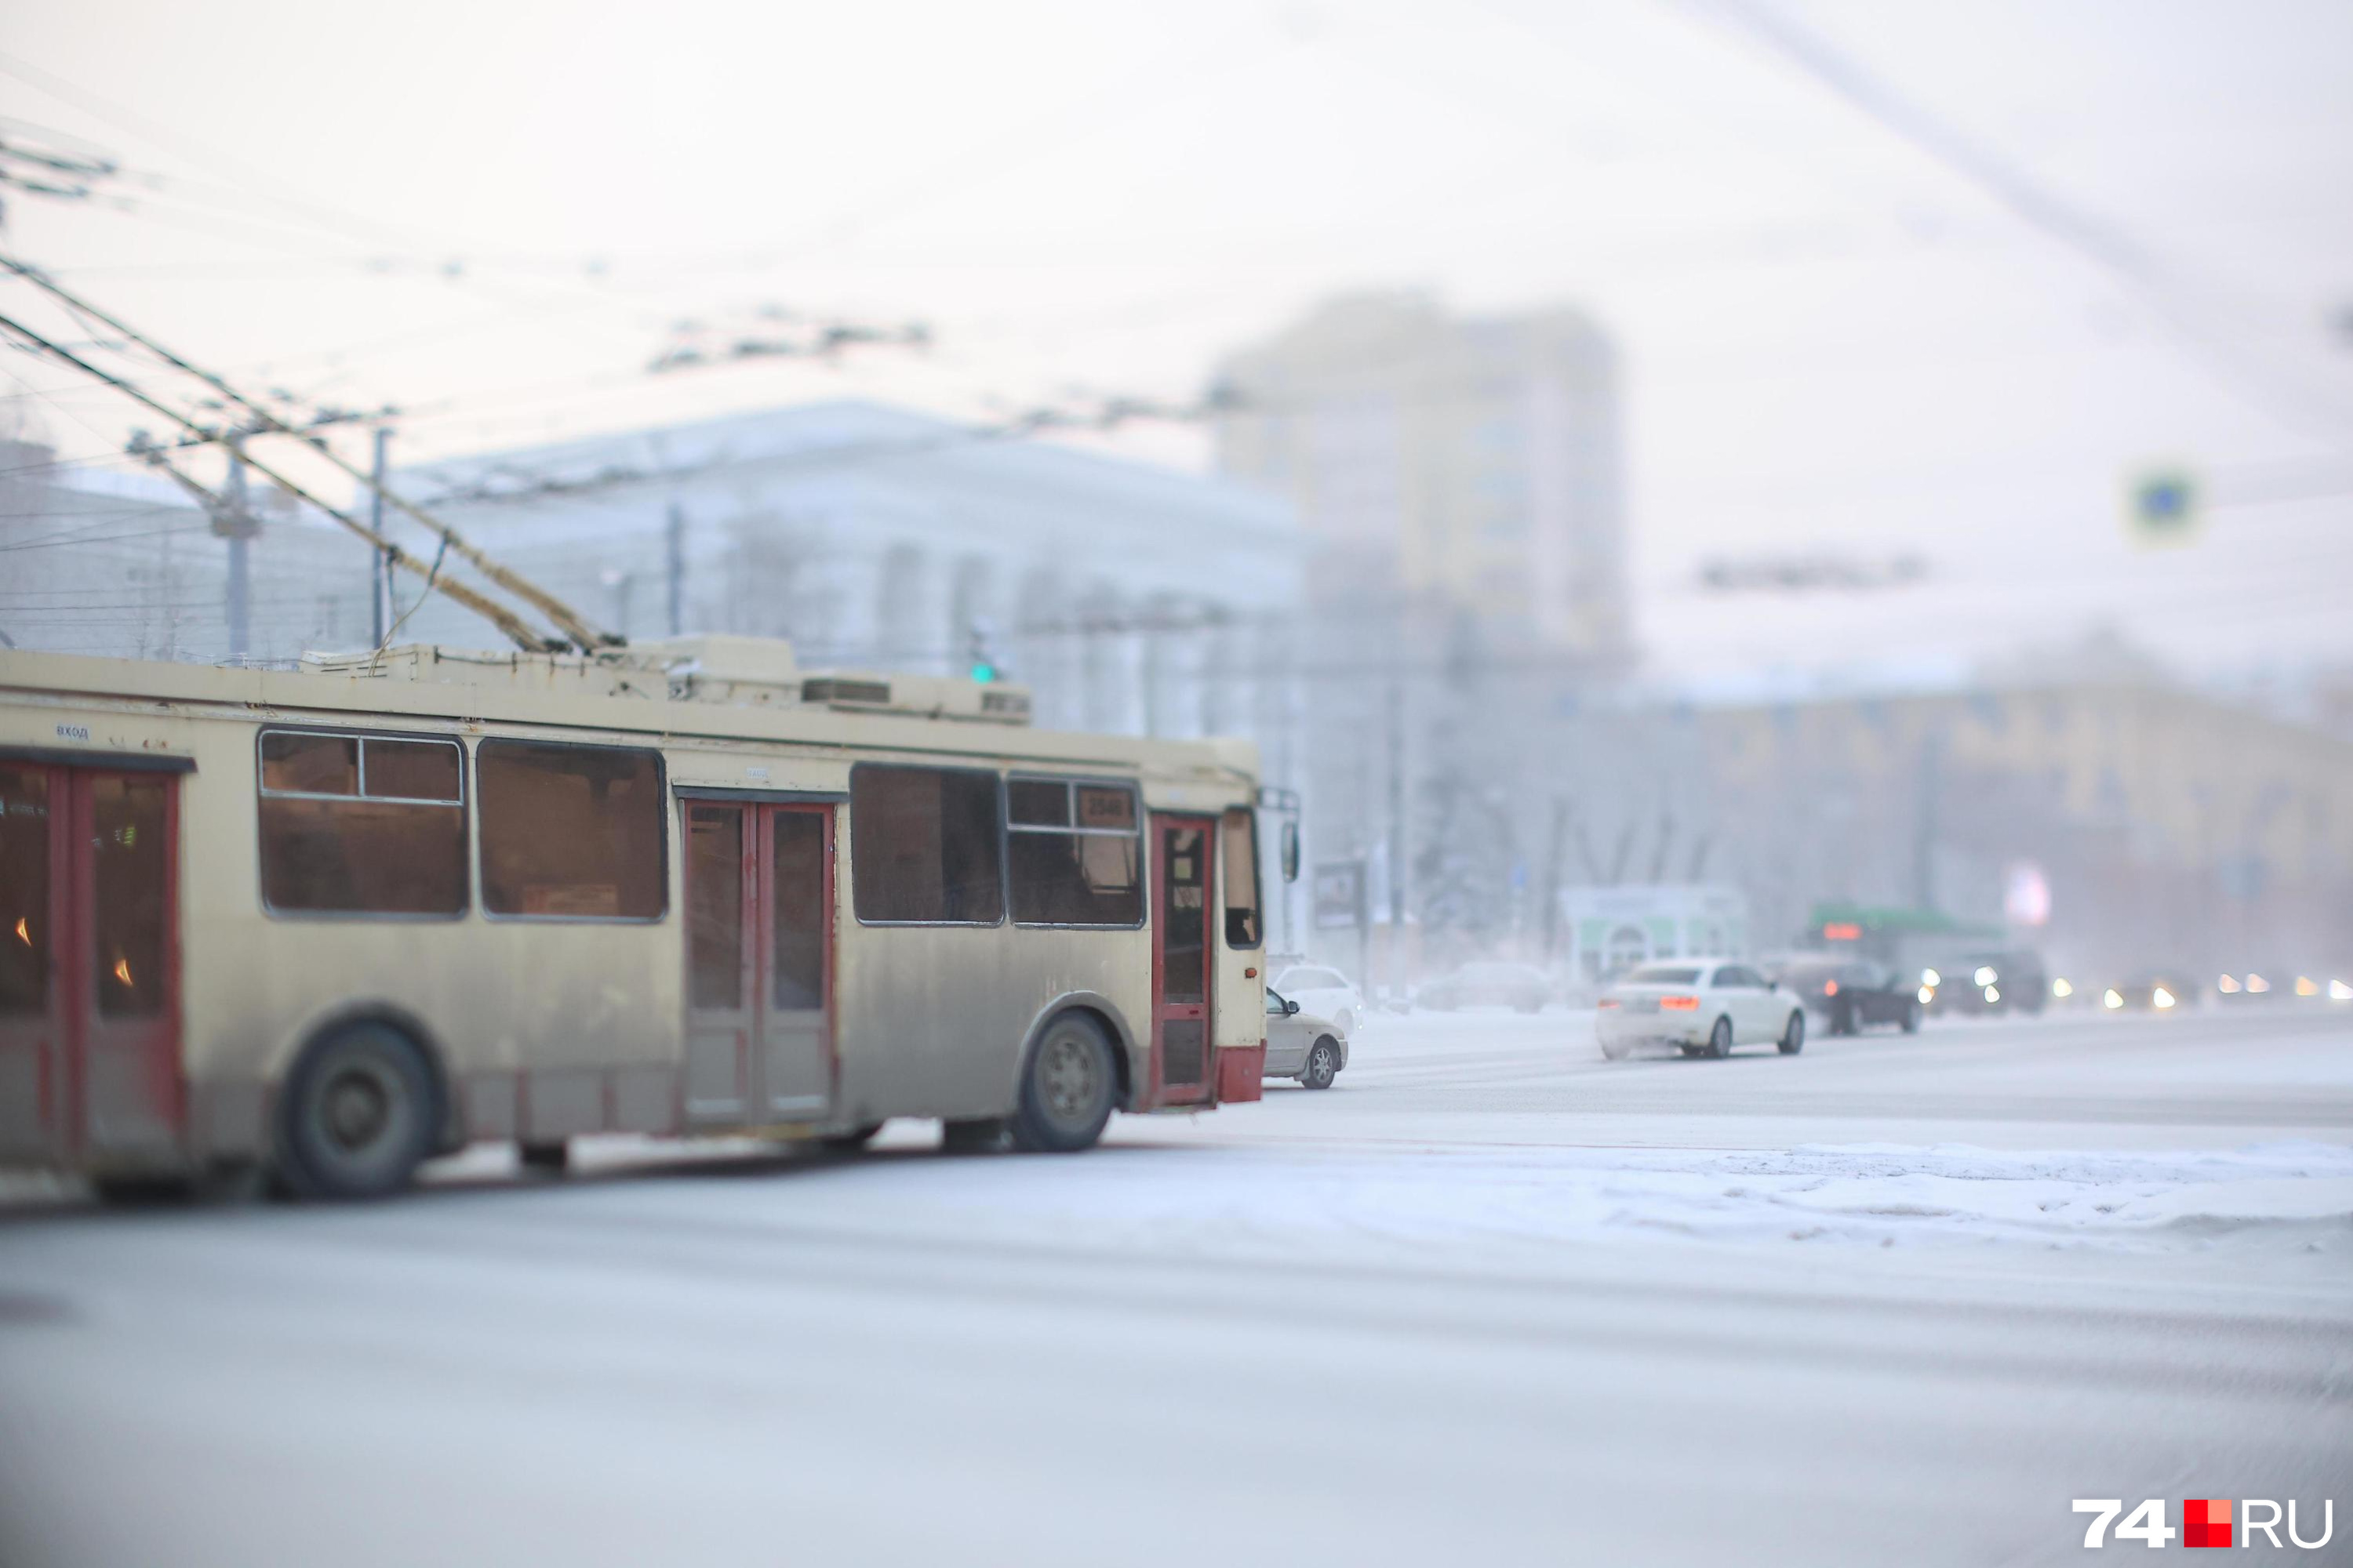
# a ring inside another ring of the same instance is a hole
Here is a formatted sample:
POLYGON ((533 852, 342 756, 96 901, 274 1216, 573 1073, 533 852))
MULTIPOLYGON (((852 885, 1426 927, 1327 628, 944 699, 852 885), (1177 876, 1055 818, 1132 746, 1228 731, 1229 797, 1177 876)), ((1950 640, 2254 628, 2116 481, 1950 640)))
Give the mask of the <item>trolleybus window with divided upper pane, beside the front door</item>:
POLYGON ((1014 924, 1144 924, 1144 865, 1134 785, 1068 778, 1005 783, 1014 924))

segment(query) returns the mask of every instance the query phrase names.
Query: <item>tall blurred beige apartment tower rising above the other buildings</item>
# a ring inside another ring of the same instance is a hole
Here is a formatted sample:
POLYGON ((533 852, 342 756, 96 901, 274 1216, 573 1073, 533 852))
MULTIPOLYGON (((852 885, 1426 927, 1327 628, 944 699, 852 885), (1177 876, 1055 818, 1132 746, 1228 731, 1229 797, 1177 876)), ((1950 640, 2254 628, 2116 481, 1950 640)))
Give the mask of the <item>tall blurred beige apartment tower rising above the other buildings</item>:
POLYGON ((1414 931, 1372 945, 1398 971, 1377 978, 1522 947, 1548 809, 1529 726, 1631 651, 1612 343, 1577 310, 1365 294, 1228 355, 1219 395, 1221 473, 1313 541, 1308 844, 1365 860, 1374 922, 1414 931))

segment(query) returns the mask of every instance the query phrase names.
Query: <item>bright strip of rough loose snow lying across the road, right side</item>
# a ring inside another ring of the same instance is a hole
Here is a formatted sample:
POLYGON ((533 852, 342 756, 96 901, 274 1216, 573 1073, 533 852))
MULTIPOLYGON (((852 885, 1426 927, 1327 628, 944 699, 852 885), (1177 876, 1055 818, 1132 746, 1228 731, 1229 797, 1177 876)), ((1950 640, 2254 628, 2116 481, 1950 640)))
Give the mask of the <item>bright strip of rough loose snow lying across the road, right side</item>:
POLYGON ((2353 1251, 2353 1147, 2320 1143, 2174 1154, 1228 1145, 1106 1150, 1085 1180, 1040 1180, 1040 1164, 1052 1161, 976 1166, 953 1194, 892 1180, 861 1199, 899 1220, 920 1208, 927 1220, 998 1232, 1191 1234, 1217 1251, 1635 1237, 2165 1251, 2219 1232, 2264 1232, 2299 1251, 2315 1237, 2334 1251, 2341 1237, 2353 1251))

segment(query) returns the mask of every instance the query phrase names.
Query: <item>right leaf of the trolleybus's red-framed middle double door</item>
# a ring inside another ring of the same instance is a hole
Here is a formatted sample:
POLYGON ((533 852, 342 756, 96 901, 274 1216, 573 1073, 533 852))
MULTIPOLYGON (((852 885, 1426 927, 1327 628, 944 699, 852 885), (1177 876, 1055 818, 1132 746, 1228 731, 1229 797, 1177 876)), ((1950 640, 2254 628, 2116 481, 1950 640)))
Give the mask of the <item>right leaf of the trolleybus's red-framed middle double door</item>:
POLYGON ((760 806, 760 1105, 833 1103, 833 806, 760 806))

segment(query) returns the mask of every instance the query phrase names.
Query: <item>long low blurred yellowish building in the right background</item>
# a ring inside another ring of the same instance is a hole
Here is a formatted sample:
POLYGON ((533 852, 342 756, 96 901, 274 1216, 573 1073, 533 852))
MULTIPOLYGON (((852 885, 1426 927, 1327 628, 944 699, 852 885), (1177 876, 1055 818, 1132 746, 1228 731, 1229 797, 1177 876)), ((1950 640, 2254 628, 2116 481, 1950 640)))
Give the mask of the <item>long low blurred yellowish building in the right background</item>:
POLYGON ((1572 877, 1732 882, 1753 947, 1847 900, 2007 922, 2078 971, 2353 954, 2353 738, 2155 679, 1621 703, 1539 745, 1572 877))

